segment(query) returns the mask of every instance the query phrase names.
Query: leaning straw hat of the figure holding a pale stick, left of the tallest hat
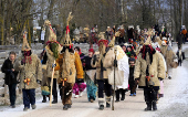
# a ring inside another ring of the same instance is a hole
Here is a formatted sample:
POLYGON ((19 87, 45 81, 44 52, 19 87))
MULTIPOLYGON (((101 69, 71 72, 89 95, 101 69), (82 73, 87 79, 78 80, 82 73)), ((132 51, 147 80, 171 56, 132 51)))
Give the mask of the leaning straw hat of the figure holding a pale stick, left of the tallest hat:
POLYGON ((50 35, 49 35, 49 41, 56 41, 56 34, 54 33, 51 22, 49 20, 45 20, 44 25, 48 25, 50 28, 50 35))

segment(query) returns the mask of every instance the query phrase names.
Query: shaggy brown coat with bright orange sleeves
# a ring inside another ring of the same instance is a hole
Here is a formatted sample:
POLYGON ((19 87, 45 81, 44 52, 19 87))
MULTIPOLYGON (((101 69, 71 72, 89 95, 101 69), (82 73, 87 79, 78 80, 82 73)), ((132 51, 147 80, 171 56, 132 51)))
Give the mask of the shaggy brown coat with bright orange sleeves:
POLYGON ((75 83, 75 76, 83 78, 84 75, 80 55, 76 52, 71 53, 69 50, 60 53, 55 71, 59 71, 58 83, 62 83, 61 78, 67 78, 67 83, 75 83))

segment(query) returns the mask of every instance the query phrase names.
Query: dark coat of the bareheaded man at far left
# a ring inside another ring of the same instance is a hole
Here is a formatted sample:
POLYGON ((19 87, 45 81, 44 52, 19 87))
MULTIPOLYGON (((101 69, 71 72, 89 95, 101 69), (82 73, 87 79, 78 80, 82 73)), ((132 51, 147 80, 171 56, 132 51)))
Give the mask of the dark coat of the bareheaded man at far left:
POLYGON ((18 76, 18 72, 12 72, 11 70, 13 68, 13 64, 12 62, 7 59, 1 67, 2 73, 6 74, 4 76, 4 83, 7 85, 11 85, 11 84, 17 84, 17 76, 18 76))

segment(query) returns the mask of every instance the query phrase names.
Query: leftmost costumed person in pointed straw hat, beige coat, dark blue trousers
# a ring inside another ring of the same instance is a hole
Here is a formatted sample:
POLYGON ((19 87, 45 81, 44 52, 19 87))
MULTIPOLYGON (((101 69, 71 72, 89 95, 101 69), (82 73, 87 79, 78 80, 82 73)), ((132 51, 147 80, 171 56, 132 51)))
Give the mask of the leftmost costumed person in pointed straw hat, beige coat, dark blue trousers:
POLYGON ((36 54, 31 53, 31 47, 27 41, 27 33, 23 34, 22 55, 15 61, 14 71, 20 71, 19 88, 23 93, 23 110, 35 109, 35 88, 42 81, 42 65, 36 54))

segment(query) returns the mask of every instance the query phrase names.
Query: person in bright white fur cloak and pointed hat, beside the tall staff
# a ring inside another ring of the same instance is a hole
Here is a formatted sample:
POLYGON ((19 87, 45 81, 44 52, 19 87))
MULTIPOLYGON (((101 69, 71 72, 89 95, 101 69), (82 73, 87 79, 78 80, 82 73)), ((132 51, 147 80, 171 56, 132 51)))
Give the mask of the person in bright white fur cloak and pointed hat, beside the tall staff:
MULTIPOLYGON (((118 32, 116 32, 115 35, 117 35, 117 33, 118 32)), ((114 59, 114 62, 115 62, 114 50, 115 50, 115 47, 117 49, 117 54, 116 54, 117 68, 115 70, 115 74, 117 74, 117 76, 115 78, 123 79, 122 84, 116 84, 116 87, 115 87, 116 102, 119 102, 119 100, 125 99, 125 92, 128 88, 129 67, 128 67, 128 57, 125 54, 124 50, 119 45, 115 46, 114 44, 115 44, 115 36, 113 38, 112 42, 108 44, 109 51, 106 53, 106 56, 104 60, 105 60, 105 62, 107 62, 109 59, 112 59, 112 60, 114 59), (123 74, 121 74, 121 73, 123 73, 123 74), (121 97, 121 95, 122 95, 122 97, 121 97)), ((113 64, 109 64, 109 63, 108 63, 107 67, 109 67, 109 65, 112 68, 114 67, 113 64)))

